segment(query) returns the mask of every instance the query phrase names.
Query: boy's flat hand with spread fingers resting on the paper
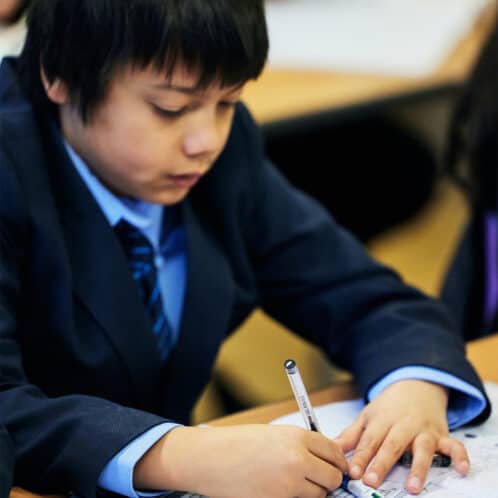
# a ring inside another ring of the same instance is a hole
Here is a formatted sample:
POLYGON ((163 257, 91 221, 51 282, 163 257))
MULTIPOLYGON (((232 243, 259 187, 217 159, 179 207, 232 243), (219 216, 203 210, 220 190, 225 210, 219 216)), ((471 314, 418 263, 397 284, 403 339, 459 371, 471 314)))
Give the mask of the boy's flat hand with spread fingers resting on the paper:
POLYGON ((420 493, 435 452, 451 456, 461 474, 470 468, 463 444, 448 436, 448 392, 429 382, 396 382, 367 405, 335 441, 354 450, 349 474, 378 487, 406 449, 413 453, 406 490, 420 493))

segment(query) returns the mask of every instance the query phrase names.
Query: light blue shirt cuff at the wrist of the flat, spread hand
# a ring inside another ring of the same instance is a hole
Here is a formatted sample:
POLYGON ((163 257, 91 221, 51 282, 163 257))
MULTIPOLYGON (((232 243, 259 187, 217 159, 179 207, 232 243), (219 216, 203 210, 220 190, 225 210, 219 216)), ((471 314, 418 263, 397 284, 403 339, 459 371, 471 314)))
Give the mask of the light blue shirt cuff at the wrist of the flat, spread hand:
POLYGON ((447 372, 430 367, 402 367, 394 370, 368 391, 367 399, 373 400, 395 382, 410 379, 425 380, 452 390, 447 410, 450 430, 474 420, 486 408, 486 398, 479 389, 447 372))

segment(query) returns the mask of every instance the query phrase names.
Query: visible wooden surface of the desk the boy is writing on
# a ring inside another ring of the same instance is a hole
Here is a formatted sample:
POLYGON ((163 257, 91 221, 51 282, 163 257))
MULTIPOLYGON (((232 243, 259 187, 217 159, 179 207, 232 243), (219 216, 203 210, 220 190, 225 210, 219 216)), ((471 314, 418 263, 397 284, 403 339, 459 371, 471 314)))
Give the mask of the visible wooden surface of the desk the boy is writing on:
MULTIPOLYGON (((498 382, 498 334, 470 343, 468 345, 468 356, 484 380, 498 382)), ((358 397, 358 392, 351 383, 335 385, 315 392, 310 396, 311 402, 316 406, 330 403, 331 401, 344 401, 356 397, 358 397)), ((296 410, 294 400, 283 401, 229 415, 211 422, 211 425, 262 424, 296 410)), ((40 498, 40 496, 24 489, 12 488, 10 498, 40 498)), ((45 498, 62 497, 51 496, 45 498)))

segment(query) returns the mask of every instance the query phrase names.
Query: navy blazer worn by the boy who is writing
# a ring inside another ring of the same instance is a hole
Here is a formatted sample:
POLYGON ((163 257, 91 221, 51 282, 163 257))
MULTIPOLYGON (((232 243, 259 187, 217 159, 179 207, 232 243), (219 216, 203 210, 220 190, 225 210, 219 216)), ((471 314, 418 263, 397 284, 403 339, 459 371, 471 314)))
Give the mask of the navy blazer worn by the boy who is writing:
POLYGON ((50 122, 4 61, 0 417, 23 486, 94 496, 130 440, 165 419, 188 422, 221 342, 257 306, 351 370, 362 391, 404 365, 482 390, 443 308, 374 263, 265 160, 243 106, 214 168, 180 205, 186 296, 161 368, 126 256, 50 122))

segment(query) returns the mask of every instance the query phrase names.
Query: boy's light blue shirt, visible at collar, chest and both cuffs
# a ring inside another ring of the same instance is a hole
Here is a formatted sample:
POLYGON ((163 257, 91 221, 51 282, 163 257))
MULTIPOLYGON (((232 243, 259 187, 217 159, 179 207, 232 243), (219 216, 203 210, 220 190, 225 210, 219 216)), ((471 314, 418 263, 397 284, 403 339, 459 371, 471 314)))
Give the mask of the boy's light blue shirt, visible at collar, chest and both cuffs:
MULTIPOLYGON (((161 205, 144 201, 122 199, 112 194, 88 169, 87 165, 66 143, 69 156, 82 180, 94 196, 111 226, 121 219, 137 227, 150 241, 155 252, 165 313, 175 335, 176 342, 183 307, 186 279, 185 230, 182 225, 176 227, 165 240, 161 240, 163 216, 168 210, 161 205), (172 283, 174 283, 174 288, 172 283)), ((443 385, 454 392, 448 406, 448 425, 455 429, 477 417, 486 407, 484 396, 472 385, 440 370, 426 367, 399 368, 386 375, 369 393, 371 401, 384 389, 400 380, 418 379, 443 385)), ((133 498, 157 496, 159 493, 137 492, 133 488, 133 471, 142 456, 176 424, 164 423, 153 427, 125 446, 105 466, 100 474, 98 485, 125 496, 133 498)))

